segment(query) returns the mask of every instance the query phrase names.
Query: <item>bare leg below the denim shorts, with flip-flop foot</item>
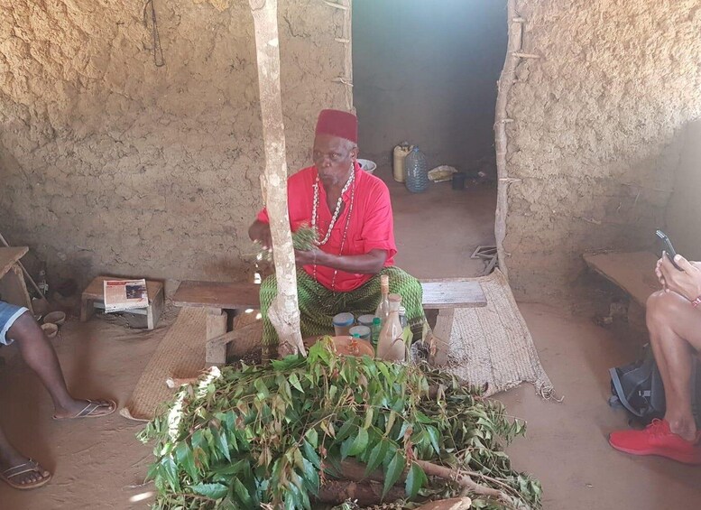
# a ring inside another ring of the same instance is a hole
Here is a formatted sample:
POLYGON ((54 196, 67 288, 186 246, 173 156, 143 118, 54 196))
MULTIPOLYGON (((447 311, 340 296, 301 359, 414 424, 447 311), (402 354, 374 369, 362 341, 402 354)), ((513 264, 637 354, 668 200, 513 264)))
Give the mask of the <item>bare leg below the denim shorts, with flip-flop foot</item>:
MULTIPOLYGON (((17 342, 24 361, 36 372, 51 394, 57 418, 74 416, 85 408, 87 401, 70 396, 56 351, 29 312, 14 321, 12 328, 7 331, 7 338, 17 342)), ((111 406, 106 401, 99 402, 111 406)))

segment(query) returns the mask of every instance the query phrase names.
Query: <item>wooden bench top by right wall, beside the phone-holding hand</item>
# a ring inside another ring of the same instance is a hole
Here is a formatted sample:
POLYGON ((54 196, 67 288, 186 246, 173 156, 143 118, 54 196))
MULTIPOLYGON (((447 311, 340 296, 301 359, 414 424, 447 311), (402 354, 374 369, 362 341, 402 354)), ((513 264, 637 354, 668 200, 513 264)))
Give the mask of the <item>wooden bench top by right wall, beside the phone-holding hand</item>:
POLYGON ((615 283, 642 307, 661 285, 655 276, 658 255, 650 252, 584 255, 586 264, 596 273, 615 283))

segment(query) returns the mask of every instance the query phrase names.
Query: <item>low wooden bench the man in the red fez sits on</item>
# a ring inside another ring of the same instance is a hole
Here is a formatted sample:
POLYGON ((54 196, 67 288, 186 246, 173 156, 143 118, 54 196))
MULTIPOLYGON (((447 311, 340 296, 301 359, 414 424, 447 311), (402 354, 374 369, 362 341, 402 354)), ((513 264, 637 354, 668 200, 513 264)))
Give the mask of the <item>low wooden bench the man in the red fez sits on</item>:
MULTIPOLYGON (((426 310, 438 310, 434 333, 438 338, 436 354, 432 361, 438 365, 447 359, 447 342, 453 329, 454 312, 457 308, 486 306, 482 286, 469 279, 424 280, 423 306, 426 310)), ((207 309, 207 348, 208 366, 222 366, 226 363, 226 344, 243 338, 259 324, 250 324, 241 329, 227 331, 227 314, 233 315, 245 310, 257 310, 261 306, 260 285, 255 283, 222 283, 186 281, 180 283, 172 302, 180 307, 207 309)))

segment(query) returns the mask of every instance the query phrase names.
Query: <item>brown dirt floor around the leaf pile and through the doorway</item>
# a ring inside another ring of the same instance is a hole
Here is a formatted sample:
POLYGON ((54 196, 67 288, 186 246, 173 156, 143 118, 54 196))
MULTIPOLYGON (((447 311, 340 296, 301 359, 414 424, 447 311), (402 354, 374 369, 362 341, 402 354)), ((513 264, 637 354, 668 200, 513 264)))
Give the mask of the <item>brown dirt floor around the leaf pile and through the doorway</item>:
MULTIPOLYGON (((481 271, 482 263, 465 260, 465 254, 490 240, 493 208, 472 209, 492 204, 490 195, 476 190, 448 195, 449 185, 421 196, 402 194, 399 186, 392 191, 404 250, 398 264, 420 276, 481 271)), ((527 438, 516 440, 509 452, 516 468, 542 481, 544 507, 701 507, 698 468, 629 457, 606 443, 609 431, 625 426, 623 413, 606 404, 606 371, 628 361, 635 346, 586 317, 537 304, 523 304, 521 311, 543 366, 565 397, 562 403, 544 402, 530 385, 499 395, 512 415, 528 421, 527 438)), ((168 323, 147 332, 104 319, 69 321, 54 343, 72 392, 125 403, 168 323)), ((35 491, 23 493, 0 483, 0 509, 145 508, 151 501, 152 487, 141 485, 151 451, 134 438, 139 423, 116 413, 99 420, 51 421, 48 394, 17 357, 0 369, 0 386, 0 424, 20 450, 54 472, 51 483, 35 491)))

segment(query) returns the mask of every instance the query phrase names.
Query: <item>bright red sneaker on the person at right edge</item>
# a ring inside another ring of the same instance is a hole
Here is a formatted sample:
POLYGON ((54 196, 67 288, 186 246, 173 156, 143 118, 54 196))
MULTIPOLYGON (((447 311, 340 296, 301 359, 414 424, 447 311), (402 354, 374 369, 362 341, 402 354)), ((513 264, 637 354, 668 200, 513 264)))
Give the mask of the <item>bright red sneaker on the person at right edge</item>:
POLYGON ((632 455, 659 455, 685 464, 701 464, 701 446, 697 445, 699 437, 701 432, 696 434, 695 441, 682 439, 669 431, 668 422, 652 420, 642 431, 611 432, 608 442, 616 450, 632 455))

